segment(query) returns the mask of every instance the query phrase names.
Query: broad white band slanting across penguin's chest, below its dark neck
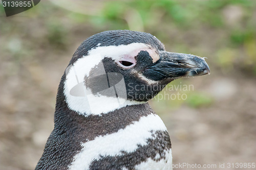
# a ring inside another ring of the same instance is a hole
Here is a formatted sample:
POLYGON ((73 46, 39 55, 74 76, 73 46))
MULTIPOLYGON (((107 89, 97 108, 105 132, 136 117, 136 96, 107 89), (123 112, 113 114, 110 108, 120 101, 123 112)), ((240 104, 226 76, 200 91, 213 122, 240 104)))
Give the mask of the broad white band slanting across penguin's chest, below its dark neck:
POLYGON ((153 138, 151 131, 157 130, 165 131, 166 127, 158 115, 150 114, 116 133, 82 143, 83 148, 75 155, 69 169, 88 169, 90 163, 100 156, 121 155, 121 151, 134 152, 138 144, 146 145, 146 139, 153 138))

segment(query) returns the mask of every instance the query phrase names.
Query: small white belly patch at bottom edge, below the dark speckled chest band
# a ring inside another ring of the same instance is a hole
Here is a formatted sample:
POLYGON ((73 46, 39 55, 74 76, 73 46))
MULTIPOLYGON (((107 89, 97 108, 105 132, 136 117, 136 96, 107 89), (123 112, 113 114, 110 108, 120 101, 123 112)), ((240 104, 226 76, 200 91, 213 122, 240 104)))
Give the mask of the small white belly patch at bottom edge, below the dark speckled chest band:
POLYGON ((173 169, 173 157, 172 150, 166 151, 165 159, 160 161, 155 161, 151 158, 147 159, 146 162, 142 162, 139 165, 136 165, 135 169, 147 169, 147 170, 172 170, 173 169), (167 163, 166 163, 167 162, 167 163))

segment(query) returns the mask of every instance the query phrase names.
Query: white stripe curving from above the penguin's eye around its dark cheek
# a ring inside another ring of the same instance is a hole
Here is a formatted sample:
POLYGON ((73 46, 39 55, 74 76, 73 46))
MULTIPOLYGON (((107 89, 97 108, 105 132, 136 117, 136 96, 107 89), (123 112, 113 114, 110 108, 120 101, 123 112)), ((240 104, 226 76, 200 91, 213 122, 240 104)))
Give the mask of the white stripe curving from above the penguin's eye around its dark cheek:
MULTIPOLYGON (((145 103, 129 101, 123 98, 112 98, 103 95, 96 96, 92 94, 90 89, 83 87, 84 77, 89 75, 90 70, 95 67, 95 65, 98 65, 98 69, 102 70, 102 73, 99 72, 99 75, 105 74, 103 64, 101 63, 101 60, 104 57, 111 57, 114 60, 117 60, 125 55, 134 55, 135 57, 139 51, 143 49, 150 50, 150 46, 144 43, 131 43, 128 45, 118 46, 97 46, 88 52, 88 56, 83 56, 82 58, 78 59, 73 65, 70 66, 70 68, 66 69, 67 79, 64 85, 64 93, 68 107, 79 114, 99 115, 101 113, 108 113, 110 111, 120 109, 127 105, 145 103), (80 89, 78 92, 76 90, 76 95, 74 96, 71 93, 71 89, 73 89, 75 86, 78 87, 78 84, 80 89)), ((142 78, 144 77, 142 76, 142 78)), ((120 91, 123 92, 124 90, 122 89, 120 91)))

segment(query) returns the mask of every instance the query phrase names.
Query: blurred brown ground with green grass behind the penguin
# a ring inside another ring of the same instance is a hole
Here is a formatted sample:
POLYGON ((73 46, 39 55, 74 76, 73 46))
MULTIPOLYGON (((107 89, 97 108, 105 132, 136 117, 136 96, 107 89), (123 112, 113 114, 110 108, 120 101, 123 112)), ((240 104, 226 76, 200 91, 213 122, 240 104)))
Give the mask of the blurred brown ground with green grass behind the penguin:
POLYGON ((168 86, 193 89, 165 89, 150 102, 170 134, 174 164, 256 162, 255 28, 253 0, 41 1, 10 17, 0 4, 0 169, 34 169, 73 53, 89 36, 118 29, 207 57, 210 75, 168 86))

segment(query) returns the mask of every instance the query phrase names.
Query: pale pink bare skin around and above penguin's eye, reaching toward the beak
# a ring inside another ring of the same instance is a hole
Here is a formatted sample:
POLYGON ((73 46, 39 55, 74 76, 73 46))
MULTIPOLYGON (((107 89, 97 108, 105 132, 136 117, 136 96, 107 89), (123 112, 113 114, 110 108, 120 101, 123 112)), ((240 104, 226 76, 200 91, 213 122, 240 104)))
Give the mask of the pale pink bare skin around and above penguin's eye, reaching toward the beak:
POLYGON ((158 61, 160 59, 157 52, 155 50, 153 50, 152 48, 140 48, 140 49, 133 51, 130 54, 125 54, 125 55, 121 56, 117 60, 117 64, 123 68, 133 67, 136 64, 135 57, 138 55, 138 53, 140 51, 147 51, 148 54, 150 54, 150 56, 152 57, 153 63, 155 63, 156 61, 158 61))

